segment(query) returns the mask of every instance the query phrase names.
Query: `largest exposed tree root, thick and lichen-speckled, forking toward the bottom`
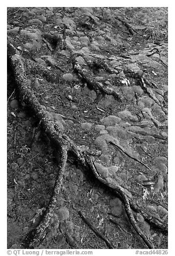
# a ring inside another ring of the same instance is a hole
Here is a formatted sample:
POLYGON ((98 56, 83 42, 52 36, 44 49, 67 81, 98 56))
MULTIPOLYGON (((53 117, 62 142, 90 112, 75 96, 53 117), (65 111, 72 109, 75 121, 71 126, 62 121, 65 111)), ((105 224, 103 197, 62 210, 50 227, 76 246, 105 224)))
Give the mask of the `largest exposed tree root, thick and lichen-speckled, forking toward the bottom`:
MULTIPOLYGON (((54 209, 57 203, 57 195, 60 191, 60 187, 62 184, 63 179, 63 173, 65 169, 65 165, 67 162, 67 153, 70 153, 73 157, 76 158, 76 160, 79 162, 79 164, 85 168, 88 168, 92 171, 94 176, 100 181, 101 183, 105 184, 107 187, 111 188, 123 201, 125 205, 125 210, 128 216, 128 219, 136 232, 140 235, 140 237, 144 240, 145 244, 149 248, 154 248, 153 245, 150 243, 149 239, 145 236, 143 231, 138 227, 133 212, 130 208, 130 205, 132 205, 132 208, 134 204, 132 204, 131 198, 129 198, 128 193, 125 189, 123 189, 120 186, 113 185, 111 183, 108 183, 106 180, 104 180, 97 172, 97 169, 91 160, 89 153, 82 153, 83 150, 81 147, 74 144, 72 140, 69 139, 69 137, 62 132, 59 126, 57 126, 54 122, 52 122, 48 116, 47 113, 41 108, 40 103, 37 100, 37 97, 33 94, 33 91, 30 89, 30 86, 28 86, 28 82, 25 75, 25 68, 23 65, 23 61, 21 60, 20 55, 18 54, 18 51, 12 44, 8 44, 8 56, 10 60, 10 64, 13 69, 14 78, 16 80, 16 84, 19 90, 20 98, 22 101, 24 101, 30 109, 33 111, 34 115, 40 120, 40 125, 42 129, 46 132, 48 138, 50 139, 51 143, 53 143, 56 150, 58 150, 61 154, 61 162, 59 164, 59 173, 57 175, 57 179, 55 181, 55 186, 53 189, 52 196, 50 197, 50 201, 48 204, 48 207, 45 211, 45 214, 43 215, 42 221, 39 224, 39 226, 33 230, 30 234, 28 234, 26 238, 26 243, 28 244, 28 247, 34 248, 38 244, 41 243, 42 239, 46 236, 47 228, 49 226, 50 219, 52 219, 54 214, 54 209)), ((76 65, 76 62, 75 62, 76 65)), ((77 69, 78 72, 81 72, 81 68, 77 69), (78 71, 79 70, 79 71, 78 71)), ((84 72, 81 72, 81 75, 84 75, 84 72)), ((89 80, 86 76, 83 77, 86 80, 89 80)), ((90 81, 92 86, 95 84, 95 88, 99 89, 98 83, 93 83, 90 81)), ((102 90, 102 89, 101 89, 102 90)), ((103 90, 105 93, 105 90, 103 90)), ((136 208, 136 207, 135 207, 136 208)), ((137 211, 139 211, 138 208, 136 208, 137 211)), ((145 212, 142 212, 143 216, 145 218, 149 218, 150 221, 152 221, 152 224, 154 223, 157 225, 157 223, 161 222, 157 219, 157 222, 154 222, 154 219, 150 217, 148 214, 145 214, 145 212)), ((159 225, 158 223, 158 225, 159 225)), ((163 224, 162 224, 163 225, 163 224)), ((166 225, 164 225, 166 226, 166 225)))

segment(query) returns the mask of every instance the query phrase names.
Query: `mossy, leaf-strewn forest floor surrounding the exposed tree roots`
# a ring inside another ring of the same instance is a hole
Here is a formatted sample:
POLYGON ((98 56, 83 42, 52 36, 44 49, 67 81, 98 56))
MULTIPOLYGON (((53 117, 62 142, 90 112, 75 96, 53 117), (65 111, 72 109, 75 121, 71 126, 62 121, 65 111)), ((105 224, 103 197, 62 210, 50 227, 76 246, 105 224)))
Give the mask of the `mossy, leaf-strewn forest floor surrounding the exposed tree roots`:
MULTIPOLYGON (((93 161, 101 176, 167 223, 167 9, 8 8, 8 40, 21 53, 28 84, 48 116, 76 145, 100 150, 93 161), (118 16, 125 16, 137 33, 131 35, 118 16), (43 37, 46 33, 59 35, 64 44, 56 48, 43 37), (72 65, 75 52, 90 78, 116 91, 121 102, 89 89, 72 65), (106 63, 112 72, 94 61, 106 63), (56 79, 46 79, 32 63, 54 72, 56 79), (148 91, 134 72, 154 82, 146 84, 148 91), (108 143, 109 138, 130 157, 108 143)), ((37 118, 20 101, 8 66, 8 248, 25 248, 26 234, 39 224, 58 159, 37 118)), ((108 248, 78 210, 114 248, 147 248, 119 198, 72 157, 49 232, 38 248, 108 248)), ((167 233, 133 214, 155 248, 167 248, 167 233)))

